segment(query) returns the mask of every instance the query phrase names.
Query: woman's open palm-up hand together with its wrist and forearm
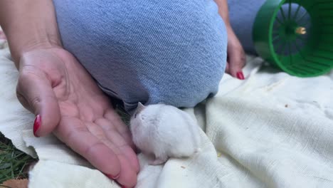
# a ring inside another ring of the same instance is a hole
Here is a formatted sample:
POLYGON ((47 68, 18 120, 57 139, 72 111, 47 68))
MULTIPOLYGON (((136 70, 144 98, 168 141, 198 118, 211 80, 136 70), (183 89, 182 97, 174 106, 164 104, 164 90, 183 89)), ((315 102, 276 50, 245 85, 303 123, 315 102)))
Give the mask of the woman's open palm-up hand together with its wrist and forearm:
POLYGON ((53 132, 108 177, 134 187, 139 164, 129 130, 61 48, 53 1, 0 1, 0 25, 19 71, 18 99, 36 115, 34 134, 53 132))

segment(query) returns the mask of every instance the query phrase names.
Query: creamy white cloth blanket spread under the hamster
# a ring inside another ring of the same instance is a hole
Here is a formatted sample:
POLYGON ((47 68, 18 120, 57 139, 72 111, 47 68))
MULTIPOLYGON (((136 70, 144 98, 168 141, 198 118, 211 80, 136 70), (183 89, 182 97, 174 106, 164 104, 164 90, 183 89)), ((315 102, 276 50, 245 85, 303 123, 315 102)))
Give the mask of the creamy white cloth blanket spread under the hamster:
MULTIPOLYGON (((202 151, 163 166, 139 155, 138 188, 333 187, 333 72, 295 78, 254 57, 244 72, 243 81, 224 75, 218 95, 186 110, 206 132, 202 151)), ((0 75, 0 132, 40 159, 30 188, 119 187, 53 135, 33 137, 8 48, 0 49, 0 75)))

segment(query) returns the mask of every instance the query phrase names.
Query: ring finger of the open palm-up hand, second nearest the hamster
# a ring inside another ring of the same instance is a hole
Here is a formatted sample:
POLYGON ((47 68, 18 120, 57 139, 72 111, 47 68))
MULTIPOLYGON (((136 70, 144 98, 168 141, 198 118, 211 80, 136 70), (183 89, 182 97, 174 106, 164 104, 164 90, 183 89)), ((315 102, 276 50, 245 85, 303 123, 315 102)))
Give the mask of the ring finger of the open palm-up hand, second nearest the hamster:
POLYGON ((139 161, 137 160, 137 155, 132 147, 127 144, 124 137, 117 132, 115 126, 111 124, 110 120, 100 118, 95 120, 95 123, 102 128, 107 139, 114 143, 120 149, 122 154, 127 157, 127 160, 129 161, 129 164, 132 165, 134 171, 139 172, 139 161))

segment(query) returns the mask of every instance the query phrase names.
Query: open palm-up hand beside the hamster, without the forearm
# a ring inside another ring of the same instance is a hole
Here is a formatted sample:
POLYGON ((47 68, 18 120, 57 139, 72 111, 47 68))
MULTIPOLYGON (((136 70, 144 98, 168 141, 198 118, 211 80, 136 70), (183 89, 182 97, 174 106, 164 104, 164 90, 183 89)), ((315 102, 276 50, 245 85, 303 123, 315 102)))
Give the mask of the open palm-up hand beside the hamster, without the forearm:
POLYGON ((17 95, 36 115, 33 132, 53 132, 108 177, 137 182, 139 164, 130 132, 83 66, 63 48, 23 53, 17 95))

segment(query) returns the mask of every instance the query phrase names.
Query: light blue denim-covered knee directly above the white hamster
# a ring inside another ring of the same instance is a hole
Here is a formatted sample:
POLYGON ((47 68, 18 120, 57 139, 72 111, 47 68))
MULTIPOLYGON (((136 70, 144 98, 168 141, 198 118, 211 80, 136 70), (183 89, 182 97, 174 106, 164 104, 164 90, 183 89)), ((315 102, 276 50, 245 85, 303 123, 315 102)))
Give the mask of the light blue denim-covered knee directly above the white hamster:
POLYGON ((213 0, 53 0, 65 49, 131 112, 191 108, 218 91, 227 33, 213 0))

